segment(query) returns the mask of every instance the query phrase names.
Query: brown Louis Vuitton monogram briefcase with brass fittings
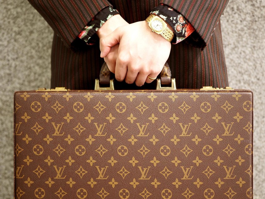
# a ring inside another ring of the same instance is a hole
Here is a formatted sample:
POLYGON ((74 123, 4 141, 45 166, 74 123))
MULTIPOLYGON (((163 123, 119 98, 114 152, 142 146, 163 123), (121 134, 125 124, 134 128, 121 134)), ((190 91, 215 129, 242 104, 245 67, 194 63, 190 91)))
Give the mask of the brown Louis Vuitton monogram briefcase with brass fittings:
POLYGON ((14 94, 16 199, 252 198, 252 91, 112 89, 14 94))

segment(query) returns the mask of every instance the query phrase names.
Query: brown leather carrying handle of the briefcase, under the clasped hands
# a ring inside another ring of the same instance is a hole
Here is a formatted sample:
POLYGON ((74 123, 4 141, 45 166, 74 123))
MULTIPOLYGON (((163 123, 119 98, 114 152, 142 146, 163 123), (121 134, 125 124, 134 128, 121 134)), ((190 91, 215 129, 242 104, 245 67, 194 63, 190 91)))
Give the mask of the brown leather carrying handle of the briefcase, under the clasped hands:
MULTIPOLYGON (((108 85, 110 81, 111 72, 108 69, 106 62, 103 63, 100 74, 99 74, 99 83, 101 85, 108 85)), ((158 78, 161 79, 162 85, 171 84, 171 70, 168 63, 165 63, 160 75, 158 78)))

